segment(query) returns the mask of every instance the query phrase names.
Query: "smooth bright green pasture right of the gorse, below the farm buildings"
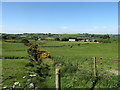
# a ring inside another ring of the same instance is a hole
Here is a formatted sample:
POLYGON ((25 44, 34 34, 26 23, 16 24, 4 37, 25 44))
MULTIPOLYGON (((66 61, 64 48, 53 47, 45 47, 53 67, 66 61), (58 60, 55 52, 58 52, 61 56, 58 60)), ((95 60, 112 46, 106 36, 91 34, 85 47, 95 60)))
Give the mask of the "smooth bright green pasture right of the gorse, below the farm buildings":
MULTIPOLYGON (((39 42, 38 42, 39 43, 39 42)), ((40 47, 49 51, 52 56, 64 57, 102 57, 118 59, 117 43, 80 43, 80 42, 44 42, 44 46, 61 46, 64 47, 40 47), (80 44, 79 46, 77 44, 80 44), (69 46, 68 46, 69 45, 69 46), (72 48, 70 46, 73 45, 72 48)), ((80 59, 80 58, 79 58, 80 59)))

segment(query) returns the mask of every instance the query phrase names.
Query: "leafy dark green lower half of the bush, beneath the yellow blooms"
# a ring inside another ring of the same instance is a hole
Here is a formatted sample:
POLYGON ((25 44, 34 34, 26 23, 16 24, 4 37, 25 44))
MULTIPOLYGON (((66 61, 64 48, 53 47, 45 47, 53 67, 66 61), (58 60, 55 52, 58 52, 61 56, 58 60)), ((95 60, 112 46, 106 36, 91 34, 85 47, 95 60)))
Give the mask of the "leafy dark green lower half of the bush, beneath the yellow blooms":
POLYGON ((42 60, 32 61, 26 65, 27 75, 24 76, 24 88, 45 88, 44 84, 46 77, 49 76, 49 66, 42 63, 42 60), (30 84, 32 83, 32 87, 30 84))

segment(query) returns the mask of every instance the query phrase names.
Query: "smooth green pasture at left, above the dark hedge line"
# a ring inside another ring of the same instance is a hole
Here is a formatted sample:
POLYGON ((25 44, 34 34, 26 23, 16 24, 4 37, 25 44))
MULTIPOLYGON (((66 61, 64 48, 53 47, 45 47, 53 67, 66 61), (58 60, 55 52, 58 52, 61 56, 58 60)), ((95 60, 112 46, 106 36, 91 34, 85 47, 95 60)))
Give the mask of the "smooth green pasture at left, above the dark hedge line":
POLYGON ((3 57, 26 57, 26 49, 27 47, 23 43, 2 42, 3 57))

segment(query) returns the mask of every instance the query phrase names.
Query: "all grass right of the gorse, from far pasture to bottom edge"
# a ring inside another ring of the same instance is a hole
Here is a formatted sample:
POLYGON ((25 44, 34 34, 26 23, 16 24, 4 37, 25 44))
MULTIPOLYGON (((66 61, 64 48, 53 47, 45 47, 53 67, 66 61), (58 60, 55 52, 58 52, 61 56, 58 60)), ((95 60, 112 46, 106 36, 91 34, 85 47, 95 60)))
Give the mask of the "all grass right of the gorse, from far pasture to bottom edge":
MULTIPOLYGON (((39 42, 38 42, 39 43, 39 42)), ((110 61, 104 59, 118 60, 118 44, 117 43, 80 43, 80 42, 42 42, 44 46, 62 46, 64 47, 40 47, 43 50, 49 51, 53 57, 55 57, 55 62, 58 64, 66 64, 65 71, 64 65, 61 70, 63 71, 62 76, 62 87, 63 88, 91 88, 94 78, 89 76, 92 74, 92 57, 97 57, 97 73, 104 75, 115 75, 113 73, 107 72, 106 70, 115 69, 118 70, 118 61, 110 61), (78 44, 80 44, 78 46, 78 44), (71 45, 73 47, 71 48, 71 45), (99 58, 102 58, 100 60, 99 58), (72 63, 73 66, 70 66, 72 63), (71 75, 71 71, 75 70, 75 66, 85 69, 83 72, 77 70, 74 73, 77 75, 71 75), (70 68, 73 67, 73 68, 70 68), (80 75, 79 75, 80 74, 80 75), (86 78, 87 77, 87 78, 86 78), (80 83, 77 83, 79 82, 80 83)), ((59 66, 58 66, 59 67, 59 66)), ((117 77, 111 79, 104 79, 101 77, 97 81, 95 88, 113 88, 117 87, 117 77)))

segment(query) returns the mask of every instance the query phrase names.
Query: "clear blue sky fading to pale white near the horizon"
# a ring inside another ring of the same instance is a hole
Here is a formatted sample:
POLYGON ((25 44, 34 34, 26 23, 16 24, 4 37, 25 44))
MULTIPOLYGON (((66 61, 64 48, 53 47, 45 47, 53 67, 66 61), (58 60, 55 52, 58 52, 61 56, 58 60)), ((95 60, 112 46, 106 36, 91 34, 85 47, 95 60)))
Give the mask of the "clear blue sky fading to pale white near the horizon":
POLYGON ((3 2, 5 33, 118 33, 117 2, 3 2))

